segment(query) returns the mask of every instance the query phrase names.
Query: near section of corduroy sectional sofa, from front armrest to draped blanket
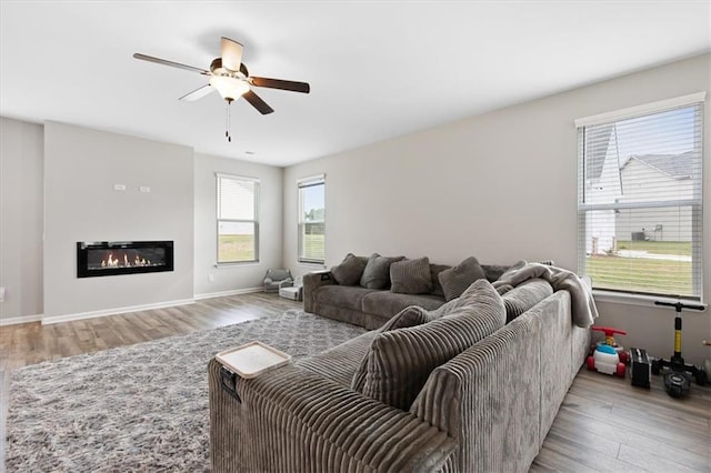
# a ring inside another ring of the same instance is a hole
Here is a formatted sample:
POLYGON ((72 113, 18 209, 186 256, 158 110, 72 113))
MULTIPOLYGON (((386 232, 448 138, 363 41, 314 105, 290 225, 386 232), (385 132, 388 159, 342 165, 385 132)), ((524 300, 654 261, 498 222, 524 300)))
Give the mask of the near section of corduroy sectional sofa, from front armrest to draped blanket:
POLYGON ((319 355, 228 376, 230 390, 210 362, 212 469, 528 471, 595 315, 579 282, 553 292, 569 278, 540 266, 503 296, 480 279, 438 310, 409 306, 319 355))

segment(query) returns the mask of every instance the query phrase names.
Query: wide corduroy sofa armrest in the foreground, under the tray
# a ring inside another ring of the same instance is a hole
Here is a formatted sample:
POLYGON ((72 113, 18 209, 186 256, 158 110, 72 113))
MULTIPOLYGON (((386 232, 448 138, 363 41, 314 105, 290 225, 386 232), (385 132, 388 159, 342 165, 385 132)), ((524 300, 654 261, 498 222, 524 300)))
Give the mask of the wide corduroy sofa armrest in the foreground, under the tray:
POLYGON ((234 380, 210 362, 214 471, 437 471, 457 449, 415 415, 287 365, 234 380))

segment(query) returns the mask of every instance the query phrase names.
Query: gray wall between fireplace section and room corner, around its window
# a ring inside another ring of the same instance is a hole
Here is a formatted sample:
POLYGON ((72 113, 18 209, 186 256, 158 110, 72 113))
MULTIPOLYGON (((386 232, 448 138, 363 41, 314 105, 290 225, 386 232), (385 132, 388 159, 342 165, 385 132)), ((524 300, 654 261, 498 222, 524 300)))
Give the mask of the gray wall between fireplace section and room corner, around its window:
POLYGON ((194 294, 198 298, 261 288, 269 268, 281 266, 282 169, 196 153, 194 294), (259 263, 217 262, 216 172, 260 179, 259 263))

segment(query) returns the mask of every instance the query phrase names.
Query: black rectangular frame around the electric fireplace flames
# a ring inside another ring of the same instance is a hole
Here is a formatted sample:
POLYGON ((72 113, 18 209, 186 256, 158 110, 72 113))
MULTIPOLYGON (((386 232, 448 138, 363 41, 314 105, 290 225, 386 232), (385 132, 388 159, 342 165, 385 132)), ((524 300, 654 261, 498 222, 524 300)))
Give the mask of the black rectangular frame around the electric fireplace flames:
POLYGON ((157 273, 173 271, 172 241, 78 241, 77 242, 77 278, 96 278, 104 275, 157 273), (164 258, 162 264, 120 266, 120 268, 89 268, 89 252, 91 251, 126 251, 162 249, 164 258))

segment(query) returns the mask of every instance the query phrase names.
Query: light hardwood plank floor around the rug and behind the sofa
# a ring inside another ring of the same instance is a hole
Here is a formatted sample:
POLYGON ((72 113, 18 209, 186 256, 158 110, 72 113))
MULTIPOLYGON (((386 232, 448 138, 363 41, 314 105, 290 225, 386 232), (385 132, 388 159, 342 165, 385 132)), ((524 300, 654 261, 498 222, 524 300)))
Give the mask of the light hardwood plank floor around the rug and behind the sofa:
MULTIPOLYGON (((0 471, 11 370, 81 353, 210 330, 300 309, 276 294, 244 294, 194 304, 41 325, 0 328, 0 471)), ((670 355, 662 354, 662 355, 670 355)), ((711 389, 692 385, 670 397, 582 370, 570 389, 532 472, 711 472, 711 389)))

